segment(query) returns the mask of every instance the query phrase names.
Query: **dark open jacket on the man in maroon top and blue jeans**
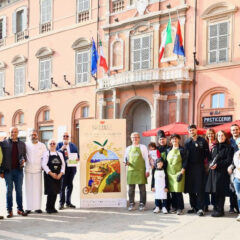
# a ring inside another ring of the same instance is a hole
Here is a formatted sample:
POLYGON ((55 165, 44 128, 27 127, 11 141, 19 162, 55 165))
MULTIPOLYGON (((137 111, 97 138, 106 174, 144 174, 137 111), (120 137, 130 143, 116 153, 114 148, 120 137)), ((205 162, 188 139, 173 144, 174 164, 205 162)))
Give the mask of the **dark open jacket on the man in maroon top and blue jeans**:
MULTIPOLYGON (((12 140, 10 138, 4 140, 1 143, 1 147, 2 147, 2 153, 3 153, 3 161, 0 168, 0 172, 3 173, 5 171, 12 170, 12 140)), ((25 161, 27 161, 25 143, 18 139, 17 147, 18 147, 19 161, 22 157, 25 159, 25 161)))

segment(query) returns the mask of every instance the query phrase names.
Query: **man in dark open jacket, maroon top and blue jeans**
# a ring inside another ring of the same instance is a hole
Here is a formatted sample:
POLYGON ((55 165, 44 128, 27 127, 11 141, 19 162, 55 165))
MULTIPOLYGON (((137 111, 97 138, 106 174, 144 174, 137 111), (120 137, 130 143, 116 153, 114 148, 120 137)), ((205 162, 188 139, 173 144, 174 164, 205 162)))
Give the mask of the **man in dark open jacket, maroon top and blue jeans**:
POLYGON ((10 138, 2 142, 3 162, 0 169, 1 177, 5 179, 7 188, 7 217, 13 217, 13 183, 16 191, 17 213, 27 216, 22 205, 23 166, 26 161, 25 143, 18 139, 18 128, 10 128, 10 138))

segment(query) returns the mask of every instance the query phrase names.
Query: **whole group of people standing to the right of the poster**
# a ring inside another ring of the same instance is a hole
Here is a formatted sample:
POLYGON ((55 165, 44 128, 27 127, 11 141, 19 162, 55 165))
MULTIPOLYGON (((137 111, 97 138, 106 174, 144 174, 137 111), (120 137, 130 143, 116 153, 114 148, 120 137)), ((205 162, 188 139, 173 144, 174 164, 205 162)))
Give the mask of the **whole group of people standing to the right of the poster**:
MULTIPOLYGON (((240 209, 240 128, 231 126, 231 138, 224 131, 208 129, 205 138, 197 134, 197 126, 188 127, 184 146, 181 137, 172 134, 169 144, 163 131, 157 134, 158 145, 148 149, 140 144, 140 134, 131 134, 132 145, 125 152, 129 207, 135 210, 135 186, 140 191, 139 210, 145 209, 146 183, 152 173, 151 189, 155 192, 154 213, 183 214, 183 193, 189 194, 188 213, 204 216, 213 205, 212 217, 224 215, 225 198, 230 197, 229 213, 240 209)), ((240 221, 240 215, 237 220, 240 221)))

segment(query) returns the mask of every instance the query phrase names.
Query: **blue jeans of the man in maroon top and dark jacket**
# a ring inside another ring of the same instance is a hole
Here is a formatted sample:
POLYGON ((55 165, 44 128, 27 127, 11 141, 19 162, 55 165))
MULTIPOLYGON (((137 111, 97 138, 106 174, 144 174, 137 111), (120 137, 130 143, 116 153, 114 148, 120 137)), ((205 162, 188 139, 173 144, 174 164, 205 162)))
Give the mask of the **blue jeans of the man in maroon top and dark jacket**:
POLYGON ((16 200, 17 200, 17 209, 23 211, 22 206, 22 184, 23 184, 23 170, 22 169, 13 169, 11 171, 4 172, 4 178, 7 187, 7 211, 12 211, 13 206, 13 183, 16 191, 16 200))

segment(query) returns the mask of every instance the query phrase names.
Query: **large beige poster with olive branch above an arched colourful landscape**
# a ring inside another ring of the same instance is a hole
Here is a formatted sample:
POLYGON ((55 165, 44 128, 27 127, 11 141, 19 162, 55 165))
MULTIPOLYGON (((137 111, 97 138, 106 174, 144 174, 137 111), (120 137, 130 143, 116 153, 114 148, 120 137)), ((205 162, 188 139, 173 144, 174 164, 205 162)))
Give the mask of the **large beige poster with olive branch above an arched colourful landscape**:
POLYGON ((126 207, 125 119, 80 120, 80 207, 126 207))

